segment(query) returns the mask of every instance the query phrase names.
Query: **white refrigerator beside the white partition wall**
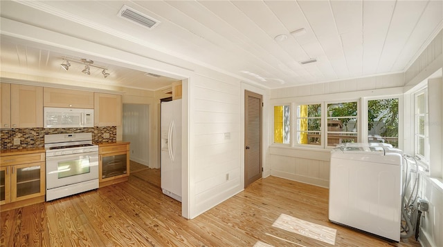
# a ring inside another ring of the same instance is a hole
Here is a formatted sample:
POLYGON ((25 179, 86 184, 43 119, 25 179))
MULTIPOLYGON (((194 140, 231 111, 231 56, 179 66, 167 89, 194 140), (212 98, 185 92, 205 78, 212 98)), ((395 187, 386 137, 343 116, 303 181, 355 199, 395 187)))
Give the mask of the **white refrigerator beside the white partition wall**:
POLYGON ((181 201, 181 99, 161 103, 161 190, 181 201))

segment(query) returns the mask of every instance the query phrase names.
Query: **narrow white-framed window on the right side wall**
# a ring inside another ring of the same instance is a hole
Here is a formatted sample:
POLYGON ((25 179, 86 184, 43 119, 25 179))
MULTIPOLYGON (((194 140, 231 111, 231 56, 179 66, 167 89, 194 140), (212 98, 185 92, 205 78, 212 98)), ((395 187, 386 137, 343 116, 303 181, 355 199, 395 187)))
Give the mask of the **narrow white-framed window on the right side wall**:
POLYGON ((428 114, 427 95, 425 91, 415 94, 415 110, 414 110, 414 152, 415 156, 420 159, 428 160, 428 137, 426 133, 428 114))

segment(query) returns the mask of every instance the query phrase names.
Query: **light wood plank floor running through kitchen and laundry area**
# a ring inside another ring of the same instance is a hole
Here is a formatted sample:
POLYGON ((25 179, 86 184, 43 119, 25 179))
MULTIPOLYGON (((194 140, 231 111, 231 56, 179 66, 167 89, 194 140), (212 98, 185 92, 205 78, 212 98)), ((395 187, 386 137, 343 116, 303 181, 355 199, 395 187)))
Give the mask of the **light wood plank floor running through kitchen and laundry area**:
POLYGON ((144 169, 127 182, 1 213, 0 246, 419 246, 330 223, 327 195, 325 188, 268 177, 187 220, 181 204, 161 193, 160 171, 144 169), (320 233, 279 228, 287 222, 281 215, 320 225, 312 227, 320 233), (335 245, 321 241, 323 228, 336 230, 335 245))

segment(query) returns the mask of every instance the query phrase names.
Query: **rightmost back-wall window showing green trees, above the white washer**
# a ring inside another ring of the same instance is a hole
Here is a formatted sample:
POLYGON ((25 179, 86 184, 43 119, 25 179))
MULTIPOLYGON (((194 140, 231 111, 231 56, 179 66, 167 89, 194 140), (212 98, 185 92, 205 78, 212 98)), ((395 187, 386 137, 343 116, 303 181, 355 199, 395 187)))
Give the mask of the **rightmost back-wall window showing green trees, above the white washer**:
POLYGON ((368 100, 368 142, 399 147, 399 99, 368 100))

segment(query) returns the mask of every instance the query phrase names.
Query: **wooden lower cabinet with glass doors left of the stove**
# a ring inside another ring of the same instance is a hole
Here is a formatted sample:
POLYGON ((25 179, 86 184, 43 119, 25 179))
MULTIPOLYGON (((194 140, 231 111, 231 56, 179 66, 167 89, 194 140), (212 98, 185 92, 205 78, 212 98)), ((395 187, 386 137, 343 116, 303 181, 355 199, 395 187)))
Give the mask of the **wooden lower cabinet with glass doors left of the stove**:
POLYGON ((44 160, 44 152, 0 157, 1 211, 44 201, 44 160))

